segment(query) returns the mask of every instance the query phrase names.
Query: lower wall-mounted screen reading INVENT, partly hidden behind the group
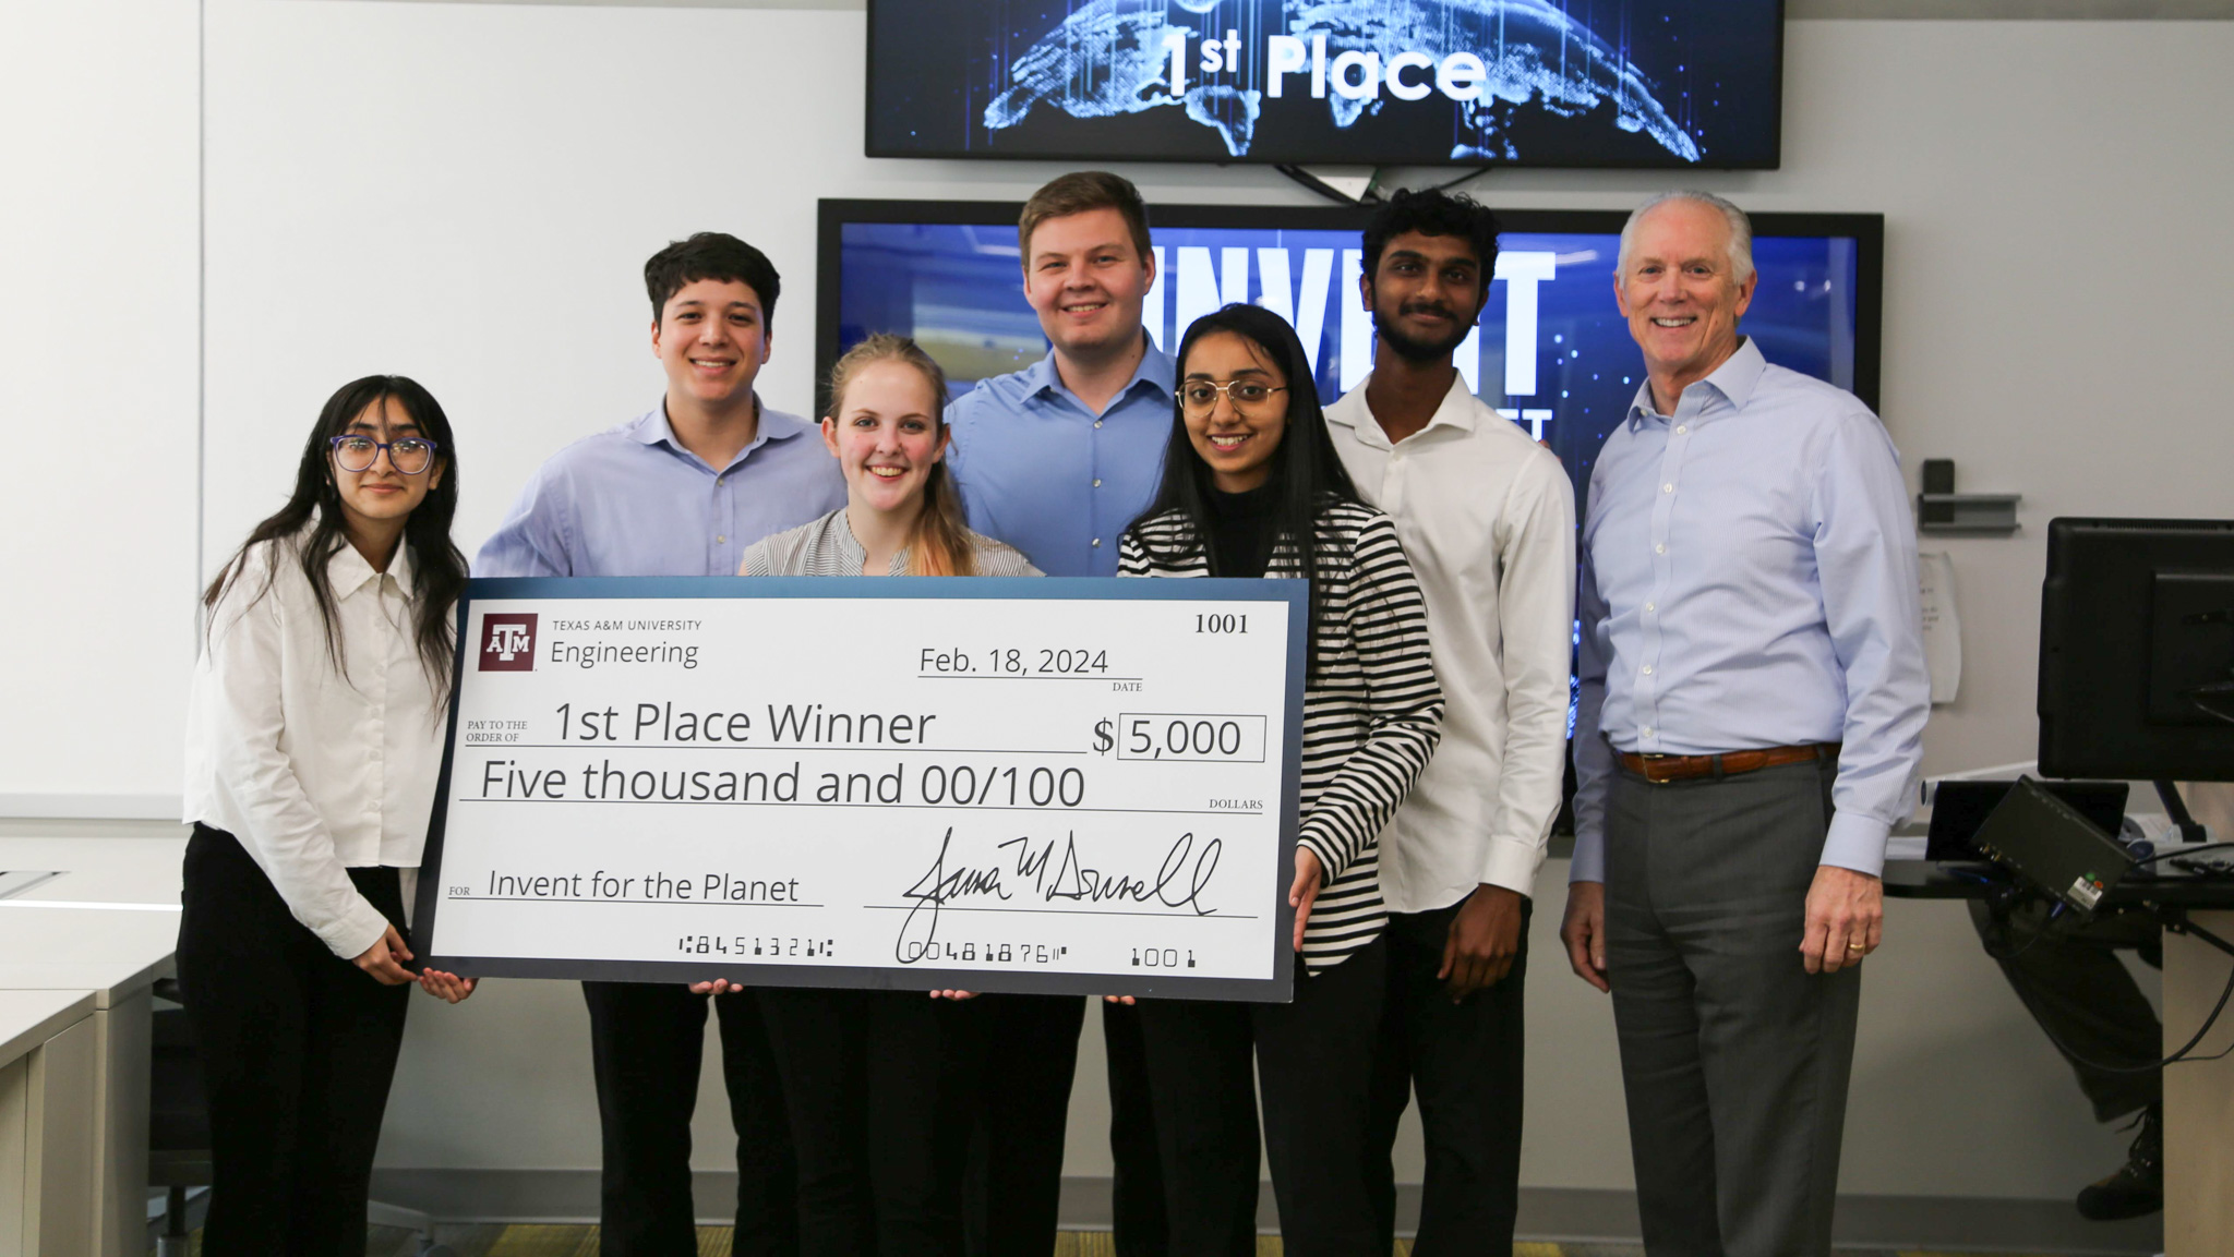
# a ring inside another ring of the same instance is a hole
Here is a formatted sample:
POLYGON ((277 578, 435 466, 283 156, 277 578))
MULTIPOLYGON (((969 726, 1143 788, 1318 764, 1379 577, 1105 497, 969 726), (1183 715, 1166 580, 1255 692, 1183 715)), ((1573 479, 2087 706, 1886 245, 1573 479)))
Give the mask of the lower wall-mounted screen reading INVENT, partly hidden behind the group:
MULTIPOLYGON (((1016 203, 822 201, 818 377, 869 333, 916 337, 956 393, 1048 353, 1023 301, 1016 203)), ((1302 337, 1325 402, 1372 371, 1358 301, 1363 210, 1151 205, 1155 286, 1142 322, 1175 348, 1226 301, 1258 301, 1302 337)), ((1642 359, 1613 306, 1617 210, 1499 212, 1497 272, 1457 359, 1468 386, 1546 442, 1577 498, 1642 359)), ((1760 284, 1740 330, 1769 362, 1877 406, 1881 214, 1754 214, 1760 284)))

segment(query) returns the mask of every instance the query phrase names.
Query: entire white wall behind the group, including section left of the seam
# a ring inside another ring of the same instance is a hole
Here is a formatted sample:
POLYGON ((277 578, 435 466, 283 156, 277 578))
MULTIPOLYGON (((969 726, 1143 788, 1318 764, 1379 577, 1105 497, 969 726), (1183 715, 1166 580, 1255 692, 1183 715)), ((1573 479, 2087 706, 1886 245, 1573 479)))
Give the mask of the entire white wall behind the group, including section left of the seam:
MULTIPOLYGON (((777 259, 793 288, 764 393, 800 406, 815 196, 1021 196, 1054 172, 860 159, 849 11, 206 11, 208 560, 277 502, 304 424, 353 375, 404 371, 449 406, 471 547, 552 449, 650 406, 637 275, 659 243, 724 228, 777 259)), ((11 192, 18 172, 47 190, 0 201, 0 402, 36 455, 16 467, 29 491, 0 493, 4 576, 38 594, 0 616, 7 708, 36 717, 0 726, 0 790, 174 788, 192 480, 85 435, 192 424, 192 38, 188 0, 0 13, 0 170, 11 192), (139 732, 105 730, 107 708, 139 732)), ((1946 455, 1968 489, 2026 493, 2020 538, 1946 543, 1968 674, 1928 730, 1932 770, 2031 752, 2049 516, 2234 514, 2234 426, 2212 406, 2234 290, 2216 248, 2230 60, 2225 22, 1794 22, 1785 170, 1700 176, 1760 210, 1883 210, 1894 438, 1910 464, 1946 455)), ((1302 203, 1258 167, 1130 174, 1151 201, 1302 203)), ((1479 192, 1620 208, 1658 185, 1499 172, 1479 192)), ((1562 877, 1546 869, 1533 935, 1524 1181, 1617 1188, 1611 1020, 1555 953, 1562 877)), ((1843 1188, 2046 1199, 2113 1163, 2118 1139, 2087 1121, 1959 911, 1894 904, 1890 922, 1843 1188)), ((1081 1076, 1066 1170, 1097 1174, 1090 1049, 1081 1076)), ((706 1168, 728 1163, 715 1114, 706 1168)), ((422 1002, 384 1163, 594 1165, 574 989, 422 1002)))

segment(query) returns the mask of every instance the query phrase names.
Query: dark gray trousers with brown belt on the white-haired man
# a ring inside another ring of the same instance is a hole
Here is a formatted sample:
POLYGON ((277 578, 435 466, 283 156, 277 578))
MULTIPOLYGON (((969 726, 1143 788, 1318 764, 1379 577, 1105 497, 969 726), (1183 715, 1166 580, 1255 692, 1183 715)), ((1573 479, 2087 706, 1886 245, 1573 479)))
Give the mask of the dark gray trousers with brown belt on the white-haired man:
POLYGON ((1801 965, 1836 764, 1606 802, 1606 973, 1651 1257, 1830 1253, 1861 969, 1801 965))

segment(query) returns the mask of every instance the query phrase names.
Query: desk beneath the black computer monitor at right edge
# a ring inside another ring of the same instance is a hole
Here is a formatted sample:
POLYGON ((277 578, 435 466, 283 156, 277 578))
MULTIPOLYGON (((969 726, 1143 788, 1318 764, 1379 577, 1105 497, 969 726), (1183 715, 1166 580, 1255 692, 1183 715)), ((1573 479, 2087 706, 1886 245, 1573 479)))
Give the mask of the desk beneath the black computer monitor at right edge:
MULTIPOLYGON (((1888 860, 1885 893, 1901 900, 1982 900, 1993 889, 1930 860, 1888 860)), ((2102 906, 2167 904, 2234 942, 2234 880, 2167 871, 2120 882, 2102 906)), ((2165 1054, 2180 1049, 2227 985, 2230 960, 2216 947, 2165 931, 2165 1054)), ((2196 1045, 2198 1056, 2234 1038, 2234 1005, 2196 1045)), ((2165 1069, 2165 1257, 2234 1253, 2234 1056, 2165 1069)))

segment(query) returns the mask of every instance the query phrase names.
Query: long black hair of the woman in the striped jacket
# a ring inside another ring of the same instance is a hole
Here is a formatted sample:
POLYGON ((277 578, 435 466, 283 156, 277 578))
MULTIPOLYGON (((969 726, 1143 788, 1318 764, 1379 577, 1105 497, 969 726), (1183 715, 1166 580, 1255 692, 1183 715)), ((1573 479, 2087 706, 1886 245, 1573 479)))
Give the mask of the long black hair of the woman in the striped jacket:
MULTIPOLYGON (((1316 677, 1325 576, 1338 558, 1327 551, 1325 538, 1318 534, 1318 514, 1336 502, 1358 502, 1358 487, 1349 480, 1349 471, 1343 469, 1343 458, 1334 453, 1334 440, 1327 435, 1327 415, 1318 406, 1318 386, 1311 384, 1311 359, 1302 353, 1296 328, 1262 306, 1233 304, 1211 310, 1195 319, 1186 328, 1186 337, 1180 339, 1175 362, 1182 380, 1186 377, 1186 355, 1195 348, 1195 342, 1215 333, 1233 333, 1247 339, 1267 362, 1287 375, 1287 429, 1280 433, 1280 447, 1271 453, 1271 476, 1264 484, 1271 487, 1276 502, 1273 554, 1282 549, 1293 554, 1302 576, 1311 583, 1307 674, 1316 677), (1305 545, 1302 538, 1311 538, 1311 543, 1305 545)), ((1195 442, 1186 435, 1186 415, 1180 411, 1180 400, 1173 397, 1171 440, 1164 442, 1164 478, 1155 489, 1155 500, 1133 520, 1128 531, 1162 563, 1184 563, 1202 556, 1211 565, 1211 576, 1222 576, 1218 572, 1218 549, 1209 545, 1211 529, 1211 467, 1195 453, 1195 442), (1142 529, 1142 525, 1166 511, 1177 511, 1186 520, 1186 527, 1177 531, 1173 545, 1159 549, 1148 540, 1148 529, 1142 529)))

